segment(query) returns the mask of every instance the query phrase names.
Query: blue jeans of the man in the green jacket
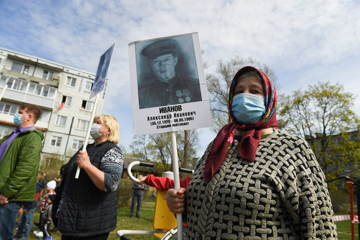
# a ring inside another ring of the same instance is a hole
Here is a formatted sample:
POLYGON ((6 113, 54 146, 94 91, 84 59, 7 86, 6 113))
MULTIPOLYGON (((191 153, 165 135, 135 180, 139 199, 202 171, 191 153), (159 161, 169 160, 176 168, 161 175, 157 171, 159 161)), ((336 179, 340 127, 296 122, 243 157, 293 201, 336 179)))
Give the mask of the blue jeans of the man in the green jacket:
POLYGON ((0 240, 12 240, 16 216, 23 202, 10 201, 0 205, 0 240))

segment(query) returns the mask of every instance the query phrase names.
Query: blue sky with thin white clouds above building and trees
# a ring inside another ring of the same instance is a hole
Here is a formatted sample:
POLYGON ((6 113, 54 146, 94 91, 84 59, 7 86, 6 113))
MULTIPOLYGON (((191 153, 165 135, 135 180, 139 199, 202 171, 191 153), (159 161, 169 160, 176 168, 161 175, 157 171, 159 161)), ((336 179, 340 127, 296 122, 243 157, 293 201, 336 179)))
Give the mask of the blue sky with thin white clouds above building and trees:
MULTIPOLYGON (((206 73, 220 59, 251 56, 274 71, 278 93, 339 82, 360 115, 359 12, 358 0, 0 0, 0 47, 95 73, 115 42, 102 113, 119 121, 127 148, 129 42, 198 32, 206 73)), ((214 136, 200 130, 199 156, 214 136)))

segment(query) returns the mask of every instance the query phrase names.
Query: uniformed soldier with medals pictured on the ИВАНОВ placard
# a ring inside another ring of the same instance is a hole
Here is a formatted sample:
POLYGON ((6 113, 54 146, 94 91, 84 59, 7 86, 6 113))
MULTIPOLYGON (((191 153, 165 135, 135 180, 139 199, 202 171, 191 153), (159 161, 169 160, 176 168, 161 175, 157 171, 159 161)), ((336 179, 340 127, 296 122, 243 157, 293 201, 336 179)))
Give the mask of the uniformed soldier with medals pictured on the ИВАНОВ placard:
POLYGON ((199 80, 175 72, 176 44, 174 39, 162 39, 141 51, 149 60, 153 76, 138 86, 140 109, 201 101, 199 80))

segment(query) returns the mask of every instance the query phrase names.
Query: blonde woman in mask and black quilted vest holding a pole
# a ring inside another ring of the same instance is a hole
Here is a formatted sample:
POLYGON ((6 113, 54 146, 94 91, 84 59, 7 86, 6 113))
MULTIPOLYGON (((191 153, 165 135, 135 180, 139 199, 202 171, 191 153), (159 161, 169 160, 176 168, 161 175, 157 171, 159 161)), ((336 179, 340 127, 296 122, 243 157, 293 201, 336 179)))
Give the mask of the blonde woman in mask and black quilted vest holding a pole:
POLYGON ((124 163, 116 145, 119 127, 111 115, 97 115, 93 122, 90 135, 94 143, 71 157, 56 191, 52 220, 61 240, 107 239, 116 227, 116 188, 124 163), (81 170, 75 178, 77 165, 81 170))

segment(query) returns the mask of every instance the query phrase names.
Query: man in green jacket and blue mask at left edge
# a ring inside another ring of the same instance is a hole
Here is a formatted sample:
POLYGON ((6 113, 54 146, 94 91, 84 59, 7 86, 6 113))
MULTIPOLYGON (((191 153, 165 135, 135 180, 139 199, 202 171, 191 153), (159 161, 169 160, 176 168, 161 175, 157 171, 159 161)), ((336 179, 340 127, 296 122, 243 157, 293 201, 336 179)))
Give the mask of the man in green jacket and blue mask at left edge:
POLYGON ((43 133, 34 126, 40 108, 24 104, 14 115, 16 129, 0 140, 0 240, 12 239, 18 210, 33 201, 43 133))

